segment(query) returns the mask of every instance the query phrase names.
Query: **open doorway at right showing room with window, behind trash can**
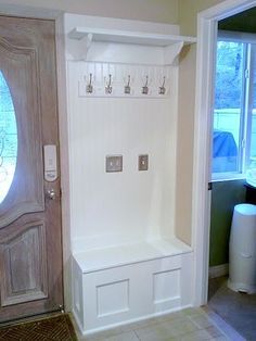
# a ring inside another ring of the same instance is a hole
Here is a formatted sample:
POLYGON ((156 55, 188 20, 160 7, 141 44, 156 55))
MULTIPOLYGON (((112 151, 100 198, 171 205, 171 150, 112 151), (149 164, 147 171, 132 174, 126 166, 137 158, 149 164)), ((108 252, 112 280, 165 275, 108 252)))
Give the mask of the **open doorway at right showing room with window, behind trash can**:
POLYGON ((228 278, 233 210, 253 203, 245 177, 256 156, 255 17, 253 8, 218 21, 208 282, 208 306, 248 340, 256 334, 256 294, 234 291, 228 278))

